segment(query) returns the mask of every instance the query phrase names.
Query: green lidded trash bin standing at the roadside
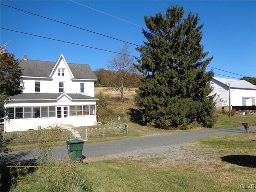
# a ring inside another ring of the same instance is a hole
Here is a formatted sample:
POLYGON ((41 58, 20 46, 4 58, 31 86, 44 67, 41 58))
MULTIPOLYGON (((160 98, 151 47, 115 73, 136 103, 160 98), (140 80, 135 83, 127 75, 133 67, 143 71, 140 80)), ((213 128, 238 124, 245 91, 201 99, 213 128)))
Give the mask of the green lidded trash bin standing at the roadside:
POLYGON ((72 161, 82 160, 82 150, 84 148, 84 140, 68 139, 67 140, 68 154, 72 161))

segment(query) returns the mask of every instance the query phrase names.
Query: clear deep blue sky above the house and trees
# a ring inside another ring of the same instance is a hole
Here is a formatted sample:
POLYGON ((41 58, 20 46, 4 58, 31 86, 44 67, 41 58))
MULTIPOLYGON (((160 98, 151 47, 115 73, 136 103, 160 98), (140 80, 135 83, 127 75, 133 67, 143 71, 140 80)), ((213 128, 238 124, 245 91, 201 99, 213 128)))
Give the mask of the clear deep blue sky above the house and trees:
MULTIPOLYGON (((2 1, 1 3, 99 34, 142 45, 144 16, 165 14, 172 5, 184 5, 186 17, 198 13, 204 51, 214 55, 207 70, 223 78, 256 77, 256 1, 2 1), (77 2, 77 3, 76 3, 77 2), (78 4, 79 3, 79 4, 78 4), (220 69, 220 70, 218 70, 220 69), (232 72, 232 73, 230 73, 232 72), (229 76, 229 77, 227 77, 229 76)), ((78 46, 50 39, 0 30, 1 46, 15 58, 57 61, 63 54, 67 62, 89 64, 92 70, 107 69, 115 55, 85 46, 116 52, 124 42, 41 18, 20 10, 0 6, 1 28, 81 44, 78 46)), ((140 56, 134 45, 130 55, 140 56)))

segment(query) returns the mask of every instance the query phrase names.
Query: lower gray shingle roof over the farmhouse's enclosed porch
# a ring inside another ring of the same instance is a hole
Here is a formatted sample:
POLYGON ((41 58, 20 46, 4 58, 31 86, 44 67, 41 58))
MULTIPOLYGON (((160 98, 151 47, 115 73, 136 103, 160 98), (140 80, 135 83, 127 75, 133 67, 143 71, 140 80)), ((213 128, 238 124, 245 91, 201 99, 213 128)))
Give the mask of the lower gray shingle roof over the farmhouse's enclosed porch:
MULTIPOLYGON (((56 100, 61 94, 63 93, 21 93, 11 96, 11 100, 56 100)), ((67 95, 72 99, 97 100, 95 97, 82 94, 68 93, 67 95)))

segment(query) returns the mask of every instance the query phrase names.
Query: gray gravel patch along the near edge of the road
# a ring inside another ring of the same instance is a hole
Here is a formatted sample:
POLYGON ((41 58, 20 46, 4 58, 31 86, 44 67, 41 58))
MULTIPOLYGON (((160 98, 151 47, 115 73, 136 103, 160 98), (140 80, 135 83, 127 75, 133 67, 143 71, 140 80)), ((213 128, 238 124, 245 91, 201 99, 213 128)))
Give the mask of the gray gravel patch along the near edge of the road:
POLYGON ((196 143, 196 141, 170 146, 144 148, 99 157, 91 157, 84 159, 84 162, 127 158, 130 161, 136 160, 146 162, 146 164, 150 164, 152 166, 160 166, 162 164, 172 162, 186 162, 186 164, 188 164, 190 162, 214 161, 213 158, 210 158, 211 155, 209 155, 212 154, 212 152, 204 149, 194 148, 192 147, 194 143, 196 143), (157 164, 154 163, 155 159, 157 159, 157 164), (184 159, 186 159, 186 161, 184 161, 184 159))

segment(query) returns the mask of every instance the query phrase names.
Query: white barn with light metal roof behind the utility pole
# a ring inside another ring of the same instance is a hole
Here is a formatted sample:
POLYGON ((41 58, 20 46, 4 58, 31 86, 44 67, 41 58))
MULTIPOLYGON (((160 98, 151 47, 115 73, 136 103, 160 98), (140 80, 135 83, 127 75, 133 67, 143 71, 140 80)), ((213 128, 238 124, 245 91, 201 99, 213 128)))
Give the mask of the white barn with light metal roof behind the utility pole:
POLYGON ((256 86, 238 79, 214 77, 211 80, 212 94, 216 93, 216 107, 229 110, 229 86, 230 104, 237 111, 256 110, 256 86))

